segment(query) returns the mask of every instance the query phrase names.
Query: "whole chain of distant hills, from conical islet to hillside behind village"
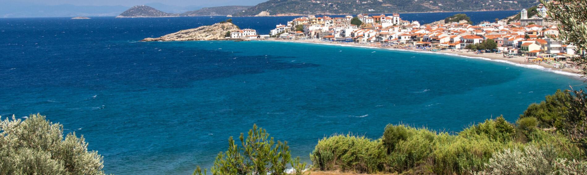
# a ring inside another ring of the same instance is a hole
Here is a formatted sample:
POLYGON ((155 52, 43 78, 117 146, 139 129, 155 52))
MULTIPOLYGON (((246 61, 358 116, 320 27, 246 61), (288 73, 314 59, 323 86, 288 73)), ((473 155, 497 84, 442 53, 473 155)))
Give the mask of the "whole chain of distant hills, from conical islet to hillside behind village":
MULTIPOLYGON (((174 14, 174 16, 298 16, 357 13, 506 11, 529 8, 535 4, 537 4, 536 0, 269 0, 255 6, 203 8, 197 11, 174 14)), ((133 9, 129 9, 129 11, 131 10, 133 9)), ((145 13, 148 11, 152 10, 146 10, 145 13)), ((153 12, 151 17, 161 17, 160 14, 162 13, 153 12)), ((144 17, 144 14, 124 13, 121 16, 144 17)))

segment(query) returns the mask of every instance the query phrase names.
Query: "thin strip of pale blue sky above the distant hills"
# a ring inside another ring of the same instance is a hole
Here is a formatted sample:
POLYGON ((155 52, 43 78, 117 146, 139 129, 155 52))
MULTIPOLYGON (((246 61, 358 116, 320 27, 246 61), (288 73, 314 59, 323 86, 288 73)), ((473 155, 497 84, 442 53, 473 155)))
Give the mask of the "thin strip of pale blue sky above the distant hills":
POLYGON ((72 5, 123 5, 123 6, 134 6, 143 5, 158 2, 166 5, 177 5, 177 6, 224 6, 224 5, 257 5, 267 0, 0 0, 0 3, 8 2, 19 2, 27 4, 38 4, 38 5, 60 5, 60 4, 72 4, 72 5))

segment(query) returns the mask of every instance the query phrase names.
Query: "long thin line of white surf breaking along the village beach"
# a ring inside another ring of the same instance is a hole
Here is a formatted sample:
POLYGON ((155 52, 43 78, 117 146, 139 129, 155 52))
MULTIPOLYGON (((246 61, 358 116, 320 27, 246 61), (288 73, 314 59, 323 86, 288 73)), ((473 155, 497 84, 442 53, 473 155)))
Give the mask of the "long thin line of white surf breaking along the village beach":
MULTIPOLYGON (((292 42, 292 43, 309 43, 309 42, 296 42, 296 41, 285 41, 285 40, 272 40, 275 42, 292 42)), ((480 59, 480 60, 487 60, 487 61, 495 61, 495 62, 500 62, 500 63, 506 63, 506 64, 511 64, 514 66, 518 66, 518 67, 524 67, 524 68, 531 68, 531 69, 536 69, 536 70, 541 70, 541 71, 546 71, 546 72, 551 72, 551 73, 555 73, 555 74, 561 74, 564 76, 570 76, 573 78, 581 78, 581 74, 575 74, 575 73, 568 73, 565 71, 559 71, 559 70, 552 70, 552 68, 546 68, 543 66, 538 66, 538 65, 531 65, 531 64, 519 64, 519 63, 514 63, 511 61, 507 61, 507 60, 497 60, 497 59, 488 59, 485 57, 471 57, 471 56, 464 56, 464 55, 460 55, 460 54, 456 54, 456 53, 443 53, 443 52, 431 52, 431 51, 425 51, 425 50, 406 50, 406 49, 396 49, 396 48, 381 48, 381 47, 375 47, 375 46, 356 46, 356 45, 350 45, 350 44, 332 44, 332 43, 309 43, 309 44, 325 44, 325 45, 331 45, 331 46, 348 46, 348 47, 362 47, 362 48, 370 48, 370 49, 387 49, 387 50, 394 50, 394 51, 399 51, 399 52, 418 52, 418 53, 433 53, 433 54, 445 54, 445 55, 450 55, 450 56, 458 56, 458 57, 465 57, 468 59, 480 59)))

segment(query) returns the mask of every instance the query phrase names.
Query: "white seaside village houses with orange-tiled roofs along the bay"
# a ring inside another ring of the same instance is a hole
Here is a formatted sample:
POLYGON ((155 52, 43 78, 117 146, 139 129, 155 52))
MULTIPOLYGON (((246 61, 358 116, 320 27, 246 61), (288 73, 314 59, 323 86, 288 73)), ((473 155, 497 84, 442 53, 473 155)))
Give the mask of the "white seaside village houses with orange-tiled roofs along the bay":
MULTIPOLYGON (((522 9, 519 22, 500 20, 477 25, 457 22, 420 25, 417 21, 402 20, 399 14, 393 13, 389 16, 356 15, 363 22, 361 26, 356 26, 351 24, 355 16, 331 18, 311 15, 276 25, 270 35, 277 39, 319 39, 409 49, 465 49, 469 44, 492 39, 498 46, 493 51, 503 53, 504 56, 571 57, 575 54, 575 47, 557 40, 559 31, 556 23, 548 20, 547 10, 541 4, 537 8, 538 15, 528 16, 526 9, 522 9)), ((251 32, 239 33, 234 33, 233 37, 256 35, 251 32)))

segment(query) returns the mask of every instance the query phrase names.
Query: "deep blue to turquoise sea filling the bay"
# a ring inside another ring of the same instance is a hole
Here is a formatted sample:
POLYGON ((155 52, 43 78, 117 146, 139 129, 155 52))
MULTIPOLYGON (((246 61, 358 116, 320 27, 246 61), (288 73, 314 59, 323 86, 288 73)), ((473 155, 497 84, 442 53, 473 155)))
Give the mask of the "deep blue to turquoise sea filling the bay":
MULTIPOLYGON (((515 11, 467 12, 475 22, 515 11)), ((453 13, 402 14, 421 23, 453 13)), ((114 174, 191 174, 254 123, 309 162, 387 123, 458 132, 582 81, 481 59, 287 42, 139 42, 224 17, 0 19, 0 115, 41 113, 114 174)), ((266 34, 292 17, 232 18, 266 34)))

